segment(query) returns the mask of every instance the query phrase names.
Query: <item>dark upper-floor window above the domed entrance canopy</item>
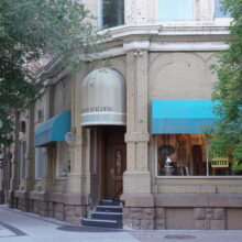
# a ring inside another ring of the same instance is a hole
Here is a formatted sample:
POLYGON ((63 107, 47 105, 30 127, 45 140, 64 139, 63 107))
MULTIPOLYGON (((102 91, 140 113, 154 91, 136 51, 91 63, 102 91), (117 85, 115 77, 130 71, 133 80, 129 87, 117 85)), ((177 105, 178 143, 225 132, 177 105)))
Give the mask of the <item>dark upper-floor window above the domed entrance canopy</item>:
POLYGON ((100 0, 100 28, 124 24, 124 0, 100 0))

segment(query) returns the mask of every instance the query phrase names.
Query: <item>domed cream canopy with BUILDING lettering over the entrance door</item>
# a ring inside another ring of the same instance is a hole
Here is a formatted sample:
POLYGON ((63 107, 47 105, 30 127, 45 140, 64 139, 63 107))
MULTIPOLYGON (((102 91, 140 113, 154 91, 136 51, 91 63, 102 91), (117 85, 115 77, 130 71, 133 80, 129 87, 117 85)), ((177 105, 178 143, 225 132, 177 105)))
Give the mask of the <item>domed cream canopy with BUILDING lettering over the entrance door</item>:
POLYGON ((81 127, 125 125, 125 89, 119 72, 110 68, 91 72, 81 84, 81 127))

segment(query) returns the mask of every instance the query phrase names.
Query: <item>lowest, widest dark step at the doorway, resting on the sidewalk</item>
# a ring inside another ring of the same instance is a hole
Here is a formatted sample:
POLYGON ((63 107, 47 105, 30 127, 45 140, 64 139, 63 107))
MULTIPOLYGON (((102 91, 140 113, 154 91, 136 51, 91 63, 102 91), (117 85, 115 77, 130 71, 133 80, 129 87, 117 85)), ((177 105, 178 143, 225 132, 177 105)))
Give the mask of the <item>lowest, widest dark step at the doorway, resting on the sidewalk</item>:
POLYGON ((88 227, 102 227, 102 228, 116 228, 116 229, 122 228, 122 224, 116 220, 102 220, 102 219, 82 218, 81 224, 88 227))

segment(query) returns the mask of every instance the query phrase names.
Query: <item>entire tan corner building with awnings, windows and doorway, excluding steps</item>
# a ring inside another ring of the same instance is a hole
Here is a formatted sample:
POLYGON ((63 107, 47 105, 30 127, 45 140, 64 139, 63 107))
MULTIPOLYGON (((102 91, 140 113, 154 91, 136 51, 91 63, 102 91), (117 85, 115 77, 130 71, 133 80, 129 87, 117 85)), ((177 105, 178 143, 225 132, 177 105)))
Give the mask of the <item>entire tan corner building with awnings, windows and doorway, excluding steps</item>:
POLYGON ((84 2, 110 28, 110 65, 42 69, 44 95, 16 116, 10 206, 79 223, 121 199, 129 228, 242 229, 241 176, 201 135, 217 119, 210 66, 228 48, 219 1, 84 2))

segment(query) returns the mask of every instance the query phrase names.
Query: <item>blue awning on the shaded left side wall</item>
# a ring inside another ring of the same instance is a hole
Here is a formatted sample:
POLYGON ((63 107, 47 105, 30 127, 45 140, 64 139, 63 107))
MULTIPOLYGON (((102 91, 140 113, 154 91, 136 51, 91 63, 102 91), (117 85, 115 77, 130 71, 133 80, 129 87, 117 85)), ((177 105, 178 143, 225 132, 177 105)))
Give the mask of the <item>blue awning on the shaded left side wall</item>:
POLYGON ((40 123, 34 134, 34 146, 46 146, 48 143, 65 141, 70 131, 70 111, 64 111, 46 122, 40 123))

